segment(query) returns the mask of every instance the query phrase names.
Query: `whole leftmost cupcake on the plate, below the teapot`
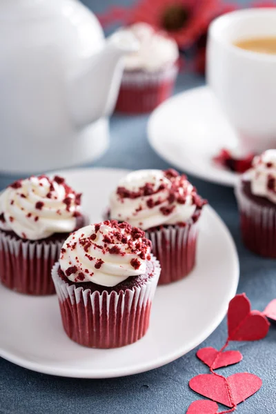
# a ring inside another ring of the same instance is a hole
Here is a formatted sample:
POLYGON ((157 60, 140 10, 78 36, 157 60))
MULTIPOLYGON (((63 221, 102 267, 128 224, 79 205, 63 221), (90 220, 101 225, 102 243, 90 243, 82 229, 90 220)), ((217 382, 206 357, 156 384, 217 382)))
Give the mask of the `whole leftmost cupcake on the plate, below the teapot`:
POLYGON ((21 179, 0 195, 0 280, 19 293, 55 293, 51 269, 64 240, 83 226, 81 194, 62 177, 21 179))

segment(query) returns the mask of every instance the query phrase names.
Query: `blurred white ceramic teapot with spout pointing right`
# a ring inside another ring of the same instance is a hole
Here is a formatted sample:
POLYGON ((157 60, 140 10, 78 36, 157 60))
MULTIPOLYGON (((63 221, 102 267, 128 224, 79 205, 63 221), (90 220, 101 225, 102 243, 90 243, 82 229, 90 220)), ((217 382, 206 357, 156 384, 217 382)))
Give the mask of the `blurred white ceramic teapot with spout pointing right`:
POLYGON ((0 170, 92 161, 108 146, 129 34, 107 39, 77 0, 0 1, 0 170))

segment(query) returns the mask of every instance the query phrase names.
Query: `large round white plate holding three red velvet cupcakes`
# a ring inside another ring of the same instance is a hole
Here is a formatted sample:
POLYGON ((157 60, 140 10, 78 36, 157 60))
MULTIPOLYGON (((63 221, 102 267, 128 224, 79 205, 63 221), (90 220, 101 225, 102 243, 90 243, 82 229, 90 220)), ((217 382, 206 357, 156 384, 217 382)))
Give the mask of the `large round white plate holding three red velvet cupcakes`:
MULTIPOLYGON (((83 192, 84 209, 100 221, 110 190, 126 170, 59 172, 83 192)), ((150 329, 136 344, 89 349, 63 332, 57 297, 28 297, 0 287, 0 356, 41 373, 107 378, 148 371, 177 359, 212 333, 226 314, 239 279, 235 244, 207 206, 201 219, 198 264, 187 279, 157 288, 150 329)))

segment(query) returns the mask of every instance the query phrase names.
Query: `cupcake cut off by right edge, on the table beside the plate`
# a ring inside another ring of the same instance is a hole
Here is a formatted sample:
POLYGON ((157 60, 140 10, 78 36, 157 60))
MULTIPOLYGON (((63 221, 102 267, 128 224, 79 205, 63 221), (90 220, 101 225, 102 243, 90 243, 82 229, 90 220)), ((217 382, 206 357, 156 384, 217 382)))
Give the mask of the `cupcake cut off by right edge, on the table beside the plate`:
POLYGON ((235 195, 247 248, 264 257, 276 257, 276 150, 253 159, 239 179, 235 195))

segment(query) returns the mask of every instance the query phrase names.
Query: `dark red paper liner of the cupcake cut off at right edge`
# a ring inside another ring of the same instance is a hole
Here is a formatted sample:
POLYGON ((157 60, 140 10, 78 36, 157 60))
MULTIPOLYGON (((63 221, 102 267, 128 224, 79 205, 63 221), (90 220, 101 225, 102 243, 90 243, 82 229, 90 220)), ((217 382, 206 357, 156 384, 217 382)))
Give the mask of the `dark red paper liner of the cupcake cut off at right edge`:
POLYGON ((241 184, 235 189, 245 246, 264 257, 276 258, 276 208, 259 206, 248 199, 241 184))

